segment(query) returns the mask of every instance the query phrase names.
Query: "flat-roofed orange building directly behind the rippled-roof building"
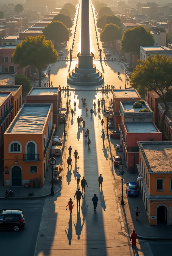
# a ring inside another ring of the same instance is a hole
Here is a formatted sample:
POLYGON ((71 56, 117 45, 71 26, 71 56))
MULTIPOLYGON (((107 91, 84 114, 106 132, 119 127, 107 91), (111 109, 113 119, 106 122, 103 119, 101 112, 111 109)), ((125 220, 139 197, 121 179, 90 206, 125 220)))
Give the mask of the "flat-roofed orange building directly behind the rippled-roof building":
POLYGON ((62 108, 61 90, 59 87, 33 87, 26 95, 26 103, 52 103, 53 123, 56 124, 55 131, 57 131, 62 108))

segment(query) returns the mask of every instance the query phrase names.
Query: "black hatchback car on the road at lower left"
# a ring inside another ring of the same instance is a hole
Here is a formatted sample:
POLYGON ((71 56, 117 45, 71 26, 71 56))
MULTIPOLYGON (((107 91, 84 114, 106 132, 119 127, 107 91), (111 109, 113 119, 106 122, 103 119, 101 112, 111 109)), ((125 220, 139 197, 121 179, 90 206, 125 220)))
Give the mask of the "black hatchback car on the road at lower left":
POLYGON ((25 226, 25 216, 20 209, 0 210, 0 230, 12 229, 18 232, 25 226))

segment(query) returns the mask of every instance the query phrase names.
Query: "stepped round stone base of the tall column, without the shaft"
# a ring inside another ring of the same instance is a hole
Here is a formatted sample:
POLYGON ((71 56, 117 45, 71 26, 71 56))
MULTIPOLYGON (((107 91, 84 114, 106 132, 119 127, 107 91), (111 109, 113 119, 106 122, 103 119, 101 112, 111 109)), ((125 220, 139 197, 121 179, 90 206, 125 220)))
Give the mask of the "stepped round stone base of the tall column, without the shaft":
POLYGON ((96 86, 104 82, 103 74, 96 69, 93 64, 94 54, 81 55, 77 54, 79 59, 75 69, 68 74, 67 82, 72 85, 91 85, 96 86))

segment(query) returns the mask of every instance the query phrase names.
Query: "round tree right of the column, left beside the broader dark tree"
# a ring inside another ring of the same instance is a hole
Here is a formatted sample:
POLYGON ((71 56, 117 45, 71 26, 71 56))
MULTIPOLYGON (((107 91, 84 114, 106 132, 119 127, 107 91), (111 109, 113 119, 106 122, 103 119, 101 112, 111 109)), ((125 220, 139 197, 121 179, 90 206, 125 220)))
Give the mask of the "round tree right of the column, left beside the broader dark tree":
POLYGON ((120 28, 113 23, 106 24, 100 33, 101 42, 112 42, 114 44, 115 39, 121 39, 120 28))

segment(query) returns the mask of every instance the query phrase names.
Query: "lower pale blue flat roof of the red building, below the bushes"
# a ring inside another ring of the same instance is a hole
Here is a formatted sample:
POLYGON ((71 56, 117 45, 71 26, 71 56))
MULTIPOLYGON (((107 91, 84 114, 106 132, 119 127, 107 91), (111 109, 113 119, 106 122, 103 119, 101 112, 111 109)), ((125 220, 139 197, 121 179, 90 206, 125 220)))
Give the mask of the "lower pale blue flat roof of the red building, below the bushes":
POLYGON ((153 123, 125 123, 125 127, 131 133, 158 132, 153 123))

